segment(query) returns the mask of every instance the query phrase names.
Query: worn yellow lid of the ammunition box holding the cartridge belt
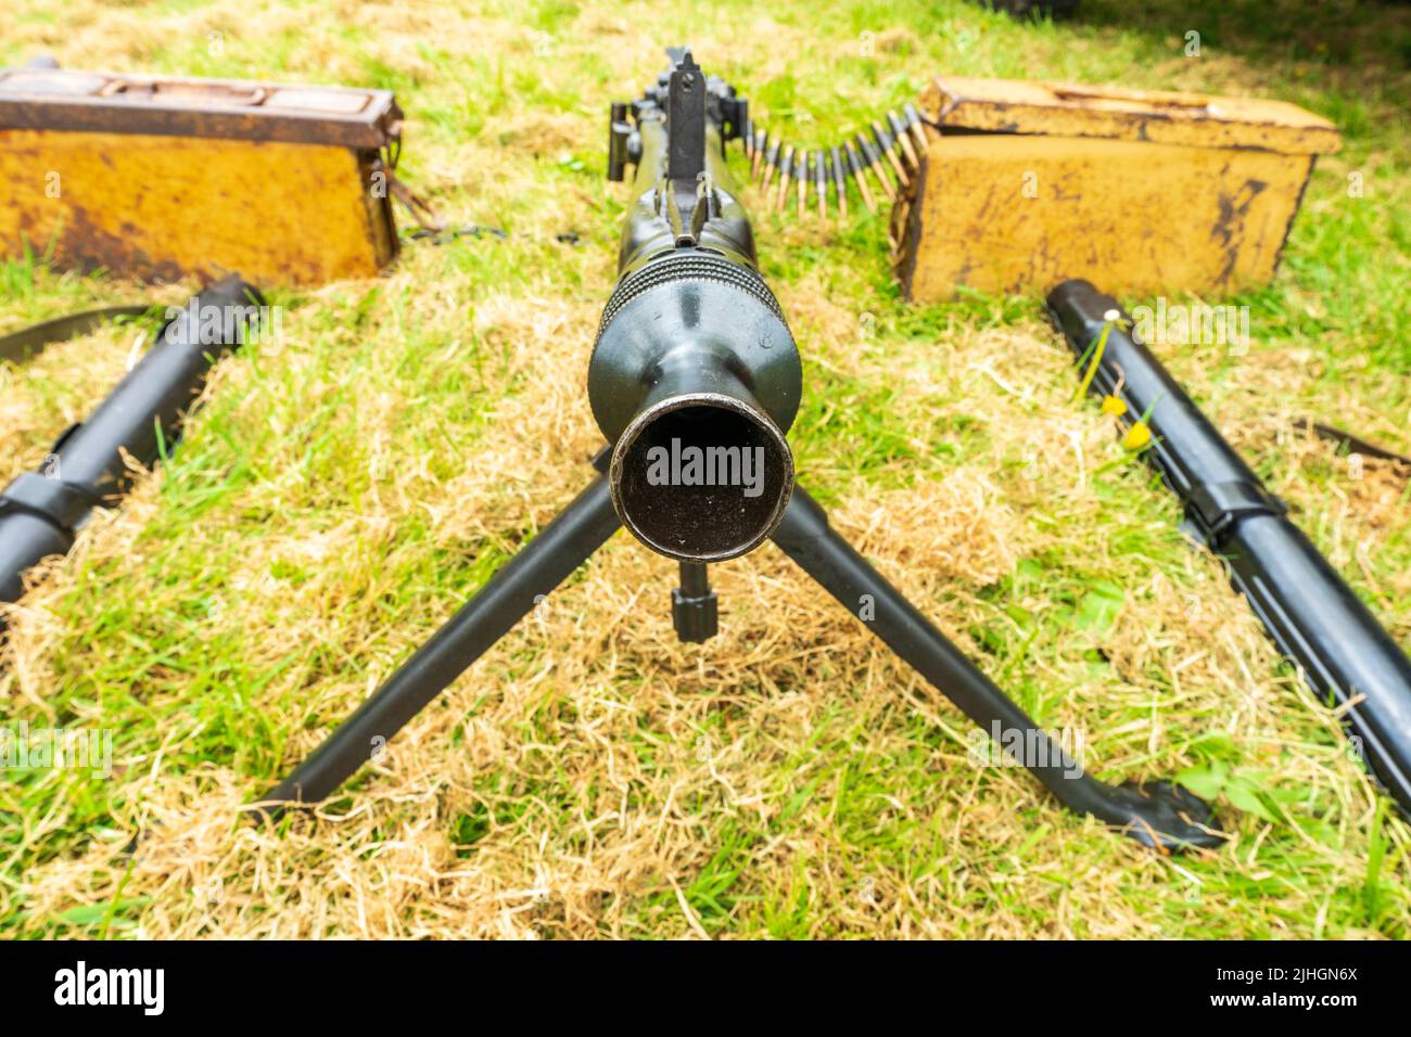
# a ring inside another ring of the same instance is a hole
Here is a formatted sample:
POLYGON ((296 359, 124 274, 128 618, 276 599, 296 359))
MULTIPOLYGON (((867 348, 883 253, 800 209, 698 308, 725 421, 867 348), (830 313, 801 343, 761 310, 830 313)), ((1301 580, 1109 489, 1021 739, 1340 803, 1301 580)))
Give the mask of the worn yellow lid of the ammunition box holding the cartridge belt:
POLYGON ((1339 147, 1338 128, 1326 119, 1297 104, 1252 97, 938 76, 919 107, 943 128, 1110 137, 1290 155, 1328 154, 1339 147))

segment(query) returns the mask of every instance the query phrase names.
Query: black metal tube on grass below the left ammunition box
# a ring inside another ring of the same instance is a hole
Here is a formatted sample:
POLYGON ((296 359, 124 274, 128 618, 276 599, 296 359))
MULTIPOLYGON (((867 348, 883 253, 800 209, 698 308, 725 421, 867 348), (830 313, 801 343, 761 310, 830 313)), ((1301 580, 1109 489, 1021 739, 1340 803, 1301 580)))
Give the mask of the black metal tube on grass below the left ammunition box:
POLYGON ((150 467, 171 447, 212 364, 243 341, 262 305, 234 274, 202 289, 92 416, 59 437, 42 474, 0 492, 0 601, 17 601, 31 566, 68 553, 93 508, 127 492, 126 456, 150 467))

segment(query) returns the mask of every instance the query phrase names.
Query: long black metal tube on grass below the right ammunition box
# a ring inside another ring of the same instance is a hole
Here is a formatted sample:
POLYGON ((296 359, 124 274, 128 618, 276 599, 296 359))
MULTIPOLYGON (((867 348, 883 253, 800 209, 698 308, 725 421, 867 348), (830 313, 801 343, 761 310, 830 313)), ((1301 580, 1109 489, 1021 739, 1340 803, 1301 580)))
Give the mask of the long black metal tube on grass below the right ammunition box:
MULTIPOLYGON (((1060 284, 1048 309, 1077 356, 1098 339, 1105 313, 1116 310, 1132 323, 1116 299, 1086 281, 1060 284)), ((1404 813, 1411 811, 1411 660, 1180 384, 1122 326, 1108 333, 1091 391, 1119 396, 1127 415, 1146 415, 1147 457, 1192 526, 1228 563, 1233 586, 1318 697, 1343 707, 1343 724, 1371 773, 1404 813)))

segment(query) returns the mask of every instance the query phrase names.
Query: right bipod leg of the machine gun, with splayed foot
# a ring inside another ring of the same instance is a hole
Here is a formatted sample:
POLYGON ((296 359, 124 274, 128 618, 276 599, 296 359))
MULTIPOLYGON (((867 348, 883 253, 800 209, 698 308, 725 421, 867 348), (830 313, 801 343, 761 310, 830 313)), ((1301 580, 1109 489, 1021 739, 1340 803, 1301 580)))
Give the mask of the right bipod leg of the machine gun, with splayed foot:
POLYGON ((1106 821, 1150 847, 1212 847, 1209 807, 1164 782, 1110 786, 1030 720, 944 633, 828 525, 809 494, 794 488, 775 543, 893 652, 955 703, 982 729, 1036 746, 1024 766, 1070 810, 1106 821), (1013 738, 1017 735, 1017 738, 1013 738))

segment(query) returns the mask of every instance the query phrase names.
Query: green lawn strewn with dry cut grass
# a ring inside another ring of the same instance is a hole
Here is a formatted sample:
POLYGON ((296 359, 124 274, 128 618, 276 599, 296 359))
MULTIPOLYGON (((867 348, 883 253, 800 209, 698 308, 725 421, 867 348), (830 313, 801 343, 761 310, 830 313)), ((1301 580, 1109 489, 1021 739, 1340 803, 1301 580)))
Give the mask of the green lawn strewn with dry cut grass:
MULTIPOLYGON (((1174 499, 1074 401, 1037 296, 903 305, 882 213, 840 227, 756 205, 804 357, 800 481, 1040 724, 1079 731, 1099 777, 1180 776, 1226 847, 1163 858, 1020 769, 976 768, 959 711, 773 546, 715 570, 721 635, 679 645, 674 566, 626 533, 317 818, 260 827, 240 807, 587 481, 584 374, 628 196, 602 178, 607 106, 682 41, 804 142, 941 72, 1332 119, 1343 151, 1319 161, 1274 285, 1208 301, 1250 306, 1247 354, 1158 351, 1411 645, 1405 473, 1356 471, 1294 427, 1411 453, 1411 8, 1084 0, 1057 25, 959 0, 8 10, 0 66, 51 52, 395 89, 405 179, 508 237, 272 293, 281 348, 224 360, 171 461, 11 610, 0 725, 106 728, 114 749, 106 780, 6 772, 0 934, 1408 935, 1411 830, 1184 542, 1174 499)), ((13 261, 0 332, 193 288, 13 261)), ((0 480, 92 409, 134 337, 0 365, 0 480)))

